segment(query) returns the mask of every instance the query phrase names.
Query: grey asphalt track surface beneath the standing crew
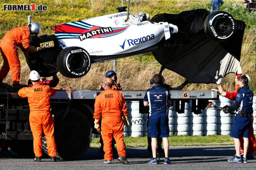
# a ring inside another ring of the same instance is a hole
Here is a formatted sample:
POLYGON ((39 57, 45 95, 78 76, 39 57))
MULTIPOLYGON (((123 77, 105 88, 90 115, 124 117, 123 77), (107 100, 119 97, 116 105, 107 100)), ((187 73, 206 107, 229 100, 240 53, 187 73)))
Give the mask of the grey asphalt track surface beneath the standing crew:
MULTIPOLYGON (((58 160, 50 162, 49 158, 42 158, 42 162, 34 162, 33 158, 20 155, 0 154, 0 169, 256 169, 256 159, 248 160, 247 164, 227 162, 234 155, 234 146, 185 146, 170 147, 170 160, 172 164, 164 165, 164 159, 160 164, 148 164, 151 154, 143 148, 126 148, 129 165, 117 161, 118 155, 114 155, 112 164, 103 164, 103 154, 98 152, 99 148, 90 148, 80 160, 58 160)), ((164 156, 163 154, 161 154, 164 156)))

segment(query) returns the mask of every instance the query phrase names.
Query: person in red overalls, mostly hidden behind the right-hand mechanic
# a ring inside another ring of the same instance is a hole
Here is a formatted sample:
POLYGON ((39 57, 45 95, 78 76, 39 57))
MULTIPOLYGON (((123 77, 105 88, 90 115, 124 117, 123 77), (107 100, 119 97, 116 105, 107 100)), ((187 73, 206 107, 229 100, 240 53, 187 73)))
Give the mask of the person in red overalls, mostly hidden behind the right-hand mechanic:
MULTIPOLYGON (((249 84, 250 77, 247 74, 244 74, 244 75, 246 75, 246 77, 248 78, 248 84, 249 84)), ((217 89, 212 89, 212 90, 217 91, 217 93, 223 97, 226 97, 228 99, 235 101, 236 95, 238 93, 237 79, 236 79, 236 90, 235 91, 227 91, 226 89, 224 89, 222 84, 218 85, 218 90, 217 89)), ((256 155, 256 139, 254 136, 253 120, 254 120, 254 118, 252 116, 252 123, 251 123, 250 131, 249 131, 249 149, 248 149, 248 153, 246 155, 247 159, 254 159, 254 156, 256 155)), ((241 143, 240 155, 243 155, 244 154, 244 148, 243 148, 244 139, 243 139, 243 137, 240 137, 239 140, 241 143)))

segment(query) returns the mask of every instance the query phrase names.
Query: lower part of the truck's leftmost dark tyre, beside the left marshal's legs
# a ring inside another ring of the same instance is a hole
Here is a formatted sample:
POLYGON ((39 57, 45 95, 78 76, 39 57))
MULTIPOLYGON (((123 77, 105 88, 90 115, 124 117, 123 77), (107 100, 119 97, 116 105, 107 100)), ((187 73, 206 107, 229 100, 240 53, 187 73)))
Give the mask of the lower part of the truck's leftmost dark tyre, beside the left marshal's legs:
POLYGON ((34 157, 33 140, 7 140, 10 149, 16 154, 34 157))

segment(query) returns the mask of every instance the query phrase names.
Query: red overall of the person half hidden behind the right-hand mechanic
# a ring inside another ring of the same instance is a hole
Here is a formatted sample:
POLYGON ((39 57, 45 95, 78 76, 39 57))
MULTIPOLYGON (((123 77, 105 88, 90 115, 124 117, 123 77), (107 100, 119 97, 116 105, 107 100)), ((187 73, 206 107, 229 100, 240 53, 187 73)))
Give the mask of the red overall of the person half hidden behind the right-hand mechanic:
MULTIPOLYGON (((236 85, 236 90, 235 91, 226 91, 226 89, 223 89, 223 91, 225 91, 226 94, 226 98, 231 99, 231 100, 236 100, 236 95, 238 93, 238 86, 236 85)), ((251 123, 251 127, 249 130, 249 150, 248 151, 252 151, 253 155, 256 155, 256 140, 255 140, 255 136, 254 136, 254 129, 253 129, 253 116, 252 116, 252 123, 251 123)), ((241 148, 242 150, 244 150, 244 138, 240 137, 239 138, 240 143, 241 143, 241 148)))

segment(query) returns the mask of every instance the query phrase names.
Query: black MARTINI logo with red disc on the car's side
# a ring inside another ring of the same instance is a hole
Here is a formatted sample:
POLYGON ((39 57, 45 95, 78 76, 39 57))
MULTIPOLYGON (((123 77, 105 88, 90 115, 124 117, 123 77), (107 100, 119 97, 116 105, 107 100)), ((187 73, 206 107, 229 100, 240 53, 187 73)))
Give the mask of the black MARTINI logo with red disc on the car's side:
POLYGON ((104 33, 113 32, 111 27, 100 28, 98 26, 93 26, 90 30, 79 36, 80 41, 85 40, 86 38, 100 38, 104 33))

